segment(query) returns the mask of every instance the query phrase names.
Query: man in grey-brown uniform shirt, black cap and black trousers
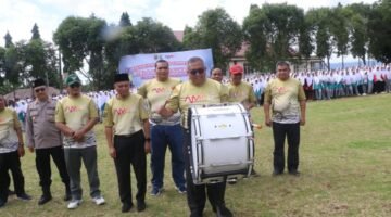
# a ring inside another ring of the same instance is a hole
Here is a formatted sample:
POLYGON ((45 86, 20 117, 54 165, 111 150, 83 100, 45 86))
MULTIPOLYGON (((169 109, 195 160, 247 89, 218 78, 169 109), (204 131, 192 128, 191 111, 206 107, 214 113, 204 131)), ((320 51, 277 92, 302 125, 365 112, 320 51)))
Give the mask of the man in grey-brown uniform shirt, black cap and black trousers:
POLYGON ((27 106, 26 139, 30 152, 36 150, 36 167, 42 196, 38 205, 43 205, 52 199, 50 192, 51 169, 50 156, 53 158, 62 182, 65 184, 65 201, 71 200, 70 177, 66 171, 61 131, 54 125, 55 101, 48 97, 43 79, 33 82, 36 100, 27 106))

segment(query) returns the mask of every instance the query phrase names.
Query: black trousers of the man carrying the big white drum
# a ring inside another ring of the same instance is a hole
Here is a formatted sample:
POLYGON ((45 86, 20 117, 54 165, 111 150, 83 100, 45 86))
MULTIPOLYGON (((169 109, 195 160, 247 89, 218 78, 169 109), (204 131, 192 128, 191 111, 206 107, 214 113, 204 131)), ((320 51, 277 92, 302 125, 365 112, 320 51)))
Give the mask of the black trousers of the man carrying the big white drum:
POLYGON ((191 153, 186 150, 188 145, 191 146, 191 135, 188 129, 184 130, 185 145, 185 168, 186 168, 186 183, 187 183, 187 200, 190 208, 191 217, 201 217, 203 209, 205 208, 206 191, 207 199, 211 202, 212 207, 215 209, 218 206, 224 206, 224 195, 226 190, 226 182, 211 183, 211 184, 194 184, 190 170, 191 153))

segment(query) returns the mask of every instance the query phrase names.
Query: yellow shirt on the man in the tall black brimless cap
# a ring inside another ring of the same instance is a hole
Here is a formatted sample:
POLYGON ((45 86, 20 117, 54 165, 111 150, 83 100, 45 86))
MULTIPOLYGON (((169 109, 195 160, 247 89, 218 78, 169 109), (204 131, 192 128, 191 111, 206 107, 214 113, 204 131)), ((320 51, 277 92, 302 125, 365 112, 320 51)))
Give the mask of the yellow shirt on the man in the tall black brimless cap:
POLYGON ((126 99, 110 99, 103 112, 103 124, 114 127, 115 135, 131 135, 142 129, 142 120, 148 119, 148 110, 139 94, 126 99))

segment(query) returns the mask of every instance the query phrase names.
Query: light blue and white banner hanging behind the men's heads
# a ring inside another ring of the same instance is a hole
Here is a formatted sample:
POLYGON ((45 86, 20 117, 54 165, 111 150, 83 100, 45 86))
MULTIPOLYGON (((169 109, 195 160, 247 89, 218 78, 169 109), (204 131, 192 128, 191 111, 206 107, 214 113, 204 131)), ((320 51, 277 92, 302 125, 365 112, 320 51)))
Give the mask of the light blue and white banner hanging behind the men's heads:
POLYGON ((125 55, 119 61, 119 73, 129 74, 134 86, 140 87, 144 80, 155 77, 155 62, 165 60, 169 64, 169 77, 187 80, 187 61, 193 56, 203 59, 206 67, 206 77, 210 77, 211 69, 213 68, 212 49, 125 55))

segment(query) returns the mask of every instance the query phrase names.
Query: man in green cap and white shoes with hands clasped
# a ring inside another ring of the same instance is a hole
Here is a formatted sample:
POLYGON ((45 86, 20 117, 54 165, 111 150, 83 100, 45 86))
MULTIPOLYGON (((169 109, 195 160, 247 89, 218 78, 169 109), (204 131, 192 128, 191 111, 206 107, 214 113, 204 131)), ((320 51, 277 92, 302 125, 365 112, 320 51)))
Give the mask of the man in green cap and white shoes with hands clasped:
POLYGON ((99 119, 98 108, 92 99, 81 94, 81 81, 76 74, 71 74, 65 84, 68 95, 55 106, 55 126, 64 135, 65 163, 71 179, 72 201, 67 208, 77 208, 81 203, 81 161, 87 169, 90 196, 97 205, 102 205, 105 201, 99 189, 97 139, 92 130, 99 119))

